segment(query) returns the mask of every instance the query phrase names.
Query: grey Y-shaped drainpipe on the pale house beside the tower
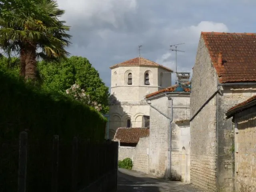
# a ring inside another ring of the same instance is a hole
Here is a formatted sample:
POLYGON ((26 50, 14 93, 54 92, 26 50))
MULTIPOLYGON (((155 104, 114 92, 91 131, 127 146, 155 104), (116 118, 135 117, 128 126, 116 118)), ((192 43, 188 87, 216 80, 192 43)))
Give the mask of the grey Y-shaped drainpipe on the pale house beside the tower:
MULTIPOLYGON (((170 114, 170 117, 168 117, 168 115, 164 114, 163 112, 161 112, 158 108, 156 108, 155 106, 153 106, 151 103, 150 103, 150 100, 146 100, 147 103, 149 104, 150 107, 152 107, 153 109, 155 109, 156 111, 158 111, 160 114, 162 114, 163 116, 165 116, 166 118, 168 118, 170 120, 170 141, 169 141, 169 144, 170 144, 170 154, 169 154, 169 163, 168 163, 168 169, 169 169, 169 176, 171 178, 172 176, 172 172, 171 172, 171 164, 172 164, 172 120, 173 120, 173 107, 172 107, 172 103, 173 103, 173 100, 172 98, 170 97, 170 95, 168 94, 165 94, 165 96, 168 98, 168 100, 171 101, 171 104, 170 106, 168 106, 168 108, 171 108, 171 114, 170 114)), ((149 148, 148 148, 149 150, 149 148)))

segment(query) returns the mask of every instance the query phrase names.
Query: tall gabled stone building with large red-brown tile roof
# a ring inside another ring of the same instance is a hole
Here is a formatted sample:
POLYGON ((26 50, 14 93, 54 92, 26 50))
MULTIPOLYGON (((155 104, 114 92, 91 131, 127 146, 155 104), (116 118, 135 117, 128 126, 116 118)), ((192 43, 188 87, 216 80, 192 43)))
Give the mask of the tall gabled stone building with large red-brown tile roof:
POLYGON ((256 94, 256 35, 202 32, 191 80, 190 180, 205 191, 233 191, 234 144, 227 110, 256 94))

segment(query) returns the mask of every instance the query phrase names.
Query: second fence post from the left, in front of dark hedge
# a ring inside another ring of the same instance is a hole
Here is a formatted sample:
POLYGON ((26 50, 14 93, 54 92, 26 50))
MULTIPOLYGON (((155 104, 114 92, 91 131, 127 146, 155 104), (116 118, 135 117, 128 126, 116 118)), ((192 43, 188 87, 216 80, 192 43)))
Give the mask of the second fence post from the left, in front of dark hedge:
POLYGON ((58 191, 59 136, 52 140, 52 192, 58 191))

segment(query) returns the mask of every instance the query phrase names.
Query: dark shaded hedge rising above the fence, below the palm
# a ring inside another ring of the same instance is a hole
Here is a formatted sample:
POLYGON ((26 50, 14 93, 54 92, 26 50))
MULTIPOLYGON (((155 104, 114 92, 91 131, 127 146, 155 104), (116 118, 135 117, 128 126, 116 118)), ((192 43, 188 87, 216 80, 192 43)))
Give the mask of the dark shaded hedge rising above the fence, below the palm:
POLYGON ((0 140, 29 130, 37 138, 104 139, 106 119, 92 107, 43 92, 0 70, 0 140))

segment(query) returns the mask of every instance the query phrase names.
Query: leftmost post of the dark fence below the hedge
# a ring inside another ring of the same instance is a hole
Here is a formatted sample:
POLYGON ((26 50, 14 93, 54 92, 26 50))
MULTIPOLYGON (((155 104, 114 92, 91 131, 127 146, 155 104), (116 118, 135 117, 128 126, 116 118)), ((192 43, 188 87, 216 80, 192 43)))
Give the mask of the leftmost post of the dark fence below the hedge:
POLYGON ((26 192, 27 176, 27 145, 28 134, 25 131, 20 133, 19 168, 18 168, 18 192, 26 192))

